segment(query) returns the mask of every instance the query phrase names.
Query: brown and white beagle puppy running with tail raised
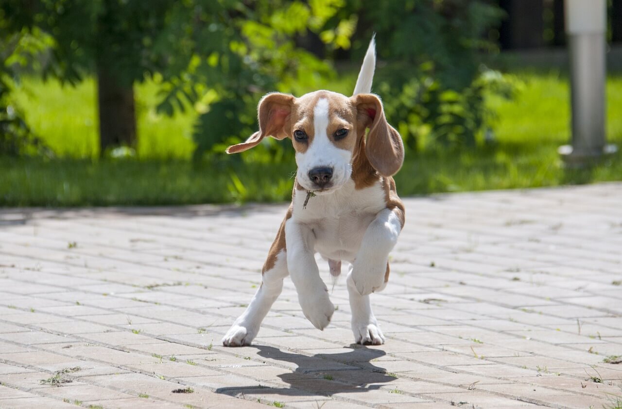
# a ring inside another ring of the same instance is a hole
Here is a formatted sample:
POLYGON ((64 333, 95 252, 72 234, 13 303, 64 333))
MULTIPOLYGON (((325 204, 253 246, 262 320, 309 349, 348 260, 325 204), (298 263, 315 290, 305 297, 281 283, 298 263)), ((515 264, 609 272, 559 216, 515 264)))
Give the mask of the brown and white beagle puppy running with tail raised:
POLYGON ((259 131, 227 149, 248 150, 267 135, 290 138, 298 169, 292 203, 262 268, 261 286, 223 345, 251 344, 288 274, 305 317, 323 330, 335 307, 315 253, 328 260, 333 279, 341 272, 341 261, 350 263, 346 283, 356 343, 384 343, 369 294, 386 286, 389 251, 404 227, 404 205, 391 177, 402 166, 404 145, 384 117, 379 97, 369 94, 375 66, 372 38, 353 96, 330 91, 299 98, 267 94, 259 102, 259 131))

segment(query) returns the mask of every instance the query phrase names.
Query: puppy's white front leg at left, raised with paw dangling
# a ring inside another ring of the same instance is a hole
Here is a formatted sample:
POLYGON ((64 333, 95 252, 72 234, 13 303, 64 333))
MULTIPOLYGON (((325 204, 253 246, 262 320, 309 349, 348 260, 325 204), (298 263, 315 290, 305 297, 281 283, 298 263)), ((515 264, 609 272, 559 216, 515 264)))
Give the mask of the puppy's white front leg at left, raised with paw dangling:
POLYGON ((298 292, 302 312, 315 328, 323 330, 330 322, 335 307, 328 298, 328 289, 315 263, 315 235, 311 228, 291 218, 285 223, 285 240, 287 267, 298 292))

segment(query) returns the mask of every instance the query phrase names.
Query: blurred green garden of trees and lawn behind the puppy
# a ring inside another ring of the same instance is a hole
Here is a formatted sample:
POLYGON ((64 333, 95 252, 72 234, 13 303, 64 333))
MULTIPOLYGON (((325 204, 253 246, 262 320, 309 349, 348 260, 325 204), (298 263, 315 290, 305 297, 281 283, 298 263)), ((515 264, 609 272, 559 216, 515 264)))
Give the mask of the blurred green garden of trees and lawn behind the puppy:
MULTIPOLYGON (((587 1, 587 0, 585 0, 587 1)), ((0 0, 0 205, 289 200, 289 140, 227 156, 271 91, 373 92, 401 196, 622 179, 564 166, 563 0, 0 0)), ((622 0, 607 0, 606 137, 622 145, 622 0)))

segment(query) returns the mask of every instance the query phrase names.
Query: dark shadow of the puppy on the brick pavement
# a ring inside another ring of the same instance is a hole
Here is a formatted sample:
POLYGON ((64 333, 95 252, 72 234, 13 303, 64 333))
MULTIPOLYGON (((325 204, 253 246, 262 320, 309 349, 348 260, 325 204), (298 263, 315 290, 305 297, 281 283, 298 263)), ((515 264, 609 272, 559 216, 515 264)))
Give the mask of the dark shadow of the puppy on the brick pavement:
MULTIPOLYGON (((383 384, 396 380, 388 375, 383 367, 377 366, 375 359, 386 355, 381 349, 366 348, 351 344, 343 353, 315 354, 305 356, 281 351, 271 346, 253 345, 248 348, 258 349, 258 355, 272 361, 291 362, 295 370, 276 375, 288 387, 267 387, 249 385, 246 387, 225 387, 216 392, 226 395, 289 395, 330 397, 335 393, 361 393, 377 390, 383 384)), ((289 367, 290 365, 286 365, 289 367)), ((258 367, 258 371, 261 368, 258 367)))

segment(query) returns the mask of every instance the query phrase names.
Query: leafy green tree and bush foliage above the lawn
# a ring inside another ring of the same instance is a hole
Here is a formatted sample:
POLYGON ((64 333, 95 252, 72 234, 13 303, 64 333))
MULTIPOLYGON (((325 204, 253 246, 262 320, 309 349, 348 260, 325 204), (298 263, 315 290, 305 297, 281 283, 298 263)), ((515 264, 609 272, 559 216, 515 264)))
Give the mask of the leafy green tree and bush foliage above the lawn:
MULTIPOLYGON (((195 158, 251 134, 262 94, 299 95, 331 76, 332 66, 318 55, 347 50, 355 32, 354 57, 377 33, 379 58, 388 65, 377 71, 374 91, 413 149, 426 133, 436 142, 473 144, 491 115, 485 90, 503 88, 479 61, 496 47, 486 30, 502 16, 488 0, 0 0, 0 6, 4 37, 45 45, 34 50, 37 58, 12 53, 39 63, 36 72, 75 84, 103 67, 129 87, 145 79, 159 84, 160 113, 197 110, 195 158), (319 44, 315 53, 301 47, 310 39, 319 44)), ((4 94, 14 63, 5 61, 0 72, 4 94)), ((25 122, 11 124, 27 132, 25 122)), ((264 150, 274 159, 285 145, 267 140, 246 157, 259 160, 264 150)))

